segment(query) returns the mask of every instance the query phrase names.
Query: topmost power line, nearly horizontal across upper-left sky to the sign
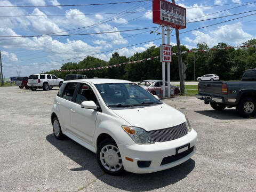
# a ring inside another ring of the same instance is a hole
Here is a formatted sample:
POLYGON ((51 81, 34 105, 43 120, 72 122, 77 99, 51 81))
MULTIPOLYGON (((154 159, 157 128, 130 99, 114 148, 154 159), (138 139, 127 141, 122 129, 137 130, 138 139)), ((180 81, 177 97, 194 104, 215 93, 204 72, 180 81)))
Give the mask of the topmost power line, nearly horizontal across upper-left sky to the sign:
POLYGON ((130 1, 130 2, 115 2, 115 3, 98 3, 98 4, 76 4, 76 5, 0 5, 0 7, 59 7, 59 6, 92 6, 92 5, 114 5, 114 4, 125 4, 125 3, 138 3, 148 2, 151 0, 141 1, 130 1))

